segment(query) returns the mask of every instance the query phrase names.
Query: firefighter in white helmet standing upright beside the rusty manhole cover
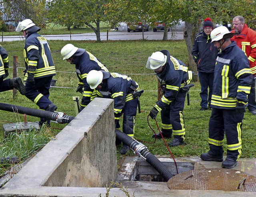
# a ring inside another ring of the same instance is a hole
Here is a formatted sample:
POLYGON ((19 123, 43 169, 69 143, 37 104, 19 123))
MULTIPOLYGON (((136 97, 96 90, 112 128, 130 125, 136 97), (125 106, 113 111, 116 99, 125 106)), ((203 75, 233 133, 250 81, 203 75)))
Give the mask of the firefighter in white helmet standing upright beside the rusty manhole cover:
POLYGON ((226 135, 227 157, 222 162, 223 168, 238 164, 242 150, 242 119, 252 85, 248 59, 236 42, 230 41, 234 34, 224 26, 211 32, 212 42, 219 53, 214 70, 212 115, 209 120, 210 150, 200 156, 204 161, 222 162, 226 135))

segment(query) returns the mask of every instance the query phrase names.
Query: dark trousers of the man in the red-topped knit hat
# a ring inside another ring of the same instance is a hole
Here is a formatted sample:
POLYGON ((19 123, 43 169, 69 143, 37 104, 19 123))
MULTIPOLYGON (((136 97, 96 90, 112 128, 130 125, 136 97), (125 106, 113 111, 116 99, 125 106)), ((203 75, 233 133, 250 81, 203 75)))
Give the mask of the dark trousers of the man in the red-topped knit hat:
POLYGON ((208 103, 210 107, 211 99, 212 99, 212 86, 213 86, 214 73, 198 72, 198 77, 201 85, 200 106, 207 108, 207 103, 208 103), (208 95, 208 87, 209 87, 209 95, 208 95))

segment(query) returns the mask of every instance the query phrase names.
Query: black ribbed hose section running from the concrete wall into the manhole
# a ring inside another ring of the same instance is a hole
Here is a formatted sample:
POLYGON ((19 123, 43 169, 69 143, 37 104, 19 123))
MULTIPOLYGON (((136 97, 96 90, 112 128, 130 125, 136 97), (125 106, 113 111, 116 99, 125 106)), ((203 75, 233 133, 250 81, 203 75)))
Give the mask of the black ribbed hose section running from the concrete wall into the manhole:
POLYGON ((122 141, 124 144, 129 146, 134 153, 138 156, 144 158, 150 165, 152 165, 158 173, 160 173, 166 181, 172 178, 174 175, 167 169, 167 167, 162 164, 153 154, 151 154, 147 147, 142 143, 132 139, 128 135, 124 134, 120 130, 116 129, 116 138, 122 141))

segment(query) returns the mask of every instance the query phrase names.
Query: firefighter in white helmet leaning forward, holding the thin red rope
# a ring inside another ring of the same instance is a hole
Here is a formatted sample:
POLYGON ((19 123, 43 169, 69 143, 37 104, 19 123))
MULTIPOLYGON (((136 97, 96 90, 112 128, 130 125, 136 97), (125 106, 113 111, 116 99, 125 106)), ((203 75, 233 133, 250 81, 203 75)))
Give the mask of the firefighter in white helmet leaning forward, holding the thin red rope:
MULTIPOLYGON (((152 53, 148 57, 146 67, 154 70, 161 86, 162 99, 150 111, 150 117, 155 119, 161 113, 161 133, 164 138, 174 136, 169 146, 179 146, 185 140, 185 126, 183 109, 187 89, 182 89, 190 84, 192 71, 180 60, 170 56, 169 51, 162 50, 152 53)), ((160 132, 153 134, 153 138, 162 138, 160 132)))

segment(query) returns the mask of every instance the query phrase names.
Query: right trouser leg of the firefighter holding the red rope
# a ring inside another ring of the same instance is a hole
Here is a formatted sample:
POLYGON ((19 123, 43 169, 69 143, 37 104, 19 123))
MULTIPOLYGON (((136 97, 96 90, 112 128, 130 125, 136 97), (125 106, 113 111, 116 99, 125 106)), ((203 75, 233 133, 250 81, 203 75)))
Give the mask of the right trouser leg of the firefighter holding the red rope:
POLYGON ((172 134, 174 138, 179 140, 185 140, 185 126, 183 109, 185 104, 187 91, 180 90, 176 99, 170 103, 170 123, 172 125, 172 134))

